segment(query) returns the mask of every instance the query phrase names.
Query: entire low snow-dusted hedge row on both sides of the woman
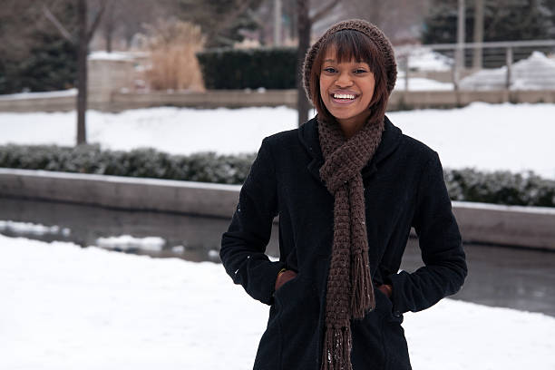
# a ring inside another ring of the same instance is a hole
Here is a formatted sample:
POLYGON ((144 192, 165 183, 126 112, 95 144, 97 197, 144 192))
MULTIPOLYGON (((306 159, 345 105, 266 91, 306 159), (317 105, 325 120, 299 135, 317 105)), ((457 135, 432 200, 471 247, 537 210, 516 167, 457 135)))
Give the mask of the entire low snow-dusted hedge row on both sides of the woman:
MULTIPOLYGON (((98 145, 0 146, 0 167, 224 184, 241 184, 254 158, 255 154, 213 152, 170 155, 153 149, 101 151, 98 145)), ((444 177, 452 200, 555 207, 555 180, 542 179, 533 172, 444 170, 444 177)))

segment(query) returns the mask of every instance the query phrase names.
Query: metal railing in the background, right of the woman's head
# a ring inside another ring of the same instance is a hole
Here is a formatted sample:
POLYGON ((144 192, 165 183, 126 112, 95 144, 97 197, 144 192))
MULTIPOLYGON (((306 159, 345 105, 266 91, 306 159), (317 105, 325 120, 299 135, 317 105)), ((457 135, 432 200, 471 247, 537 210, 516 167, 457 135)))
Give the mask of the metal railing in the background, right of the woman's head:
POLYGON ((399 90, 555 90, 555 40, 409 45, 395 54, 399 90))

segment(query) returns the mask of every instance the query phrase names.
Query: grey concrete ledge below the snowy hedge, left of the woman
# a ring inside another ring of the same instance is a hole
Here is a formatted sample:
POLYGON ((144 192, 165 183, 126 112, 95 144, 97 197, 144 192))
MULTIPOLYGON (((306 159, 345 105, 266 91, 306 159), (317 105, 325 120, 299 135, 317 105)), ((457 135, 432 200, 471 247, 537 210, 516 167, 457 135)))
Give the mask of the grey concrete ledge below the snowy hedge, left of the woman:
POLYGON ((0 168, 0 196, 230 218, 239 185, 0 168))

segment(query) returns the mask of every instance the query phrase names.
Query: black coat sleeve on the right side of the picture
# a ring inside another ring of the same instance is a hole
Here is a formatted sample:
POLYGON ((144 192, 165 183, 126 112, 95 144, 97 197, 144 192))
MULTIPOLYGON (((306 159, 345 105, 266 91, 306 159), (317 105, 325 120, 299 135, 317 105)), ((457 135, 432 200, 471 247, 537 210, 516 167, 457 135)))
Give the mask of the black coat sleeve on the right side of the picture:
POLYGON ((396 314, 423 310, 455 294, 467 275, 461 233, 443 180, 442 164, 435 151, 424 166, 418 185, 413 226, 424 267, 386 278, 393 286, 396 314))

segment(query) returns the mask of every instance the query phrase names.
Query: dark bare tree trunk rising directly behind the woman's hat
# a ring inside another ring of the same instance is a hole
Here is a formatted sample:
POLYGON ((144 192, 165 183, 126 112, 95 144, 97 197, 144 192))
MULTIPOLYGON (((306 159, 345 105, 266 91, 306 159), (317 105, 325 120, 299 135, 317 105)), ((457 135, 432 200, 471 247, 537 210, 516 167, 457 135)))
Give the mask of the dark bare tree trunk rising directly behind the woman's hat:
POLYGON ((305 54, 310 47, 310 32, 312 24, 328 15, 340 1, 332 0, 316 9, 313 15, 309 15, 309 0, 297 0, 297 34, 298 34, 298 49, 297 49, 297 112, 298 112, 298 125, 300 126, 308 120, 308 110, 310 109, 310 102, 308 102, 305 89, 303 87, 303 62, 305 54))

